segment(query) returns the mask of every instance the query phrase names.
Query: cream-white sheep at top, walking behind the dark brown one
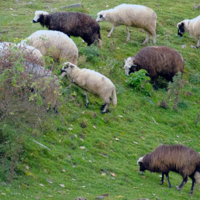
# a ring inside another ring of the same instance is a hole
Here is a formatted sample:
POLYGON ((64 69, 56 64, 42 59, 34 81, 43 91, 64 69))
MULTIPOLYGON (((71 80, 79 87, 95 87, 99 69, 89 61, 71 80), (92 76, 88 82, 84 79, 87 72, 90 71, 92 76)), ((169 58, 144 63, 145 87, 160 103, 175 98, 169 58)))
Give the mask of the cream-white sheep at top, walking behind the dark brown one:
POLYGON ((130 40, 129 26, 142 28, 147 32, 146 39, 142 45, 149 41, 150 36, 153 36, 153 43, 156 44, 156 13, 146 7, 134 4, 121 4, 113 9, 103 10, 97 14, 97 22, 106 21, 113 24, 113 27, 108 34, 111 36, 114 28, 120 25, 126 25, 127 39, 130 40))

